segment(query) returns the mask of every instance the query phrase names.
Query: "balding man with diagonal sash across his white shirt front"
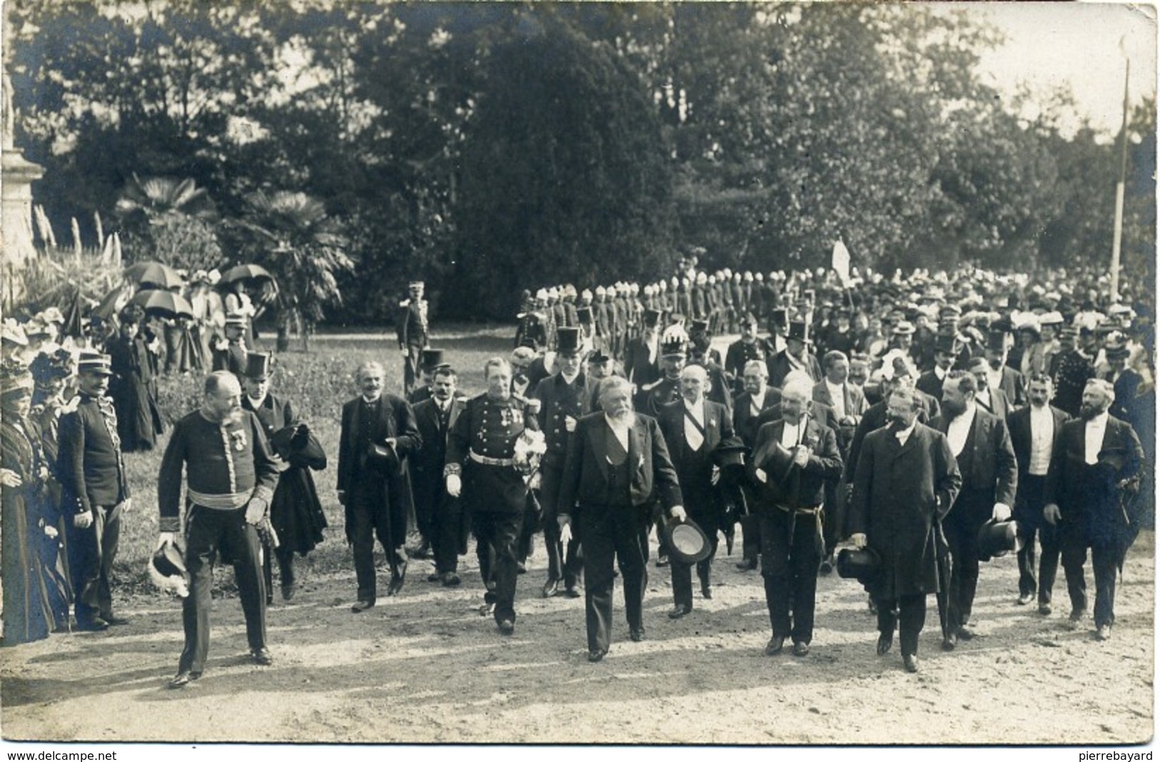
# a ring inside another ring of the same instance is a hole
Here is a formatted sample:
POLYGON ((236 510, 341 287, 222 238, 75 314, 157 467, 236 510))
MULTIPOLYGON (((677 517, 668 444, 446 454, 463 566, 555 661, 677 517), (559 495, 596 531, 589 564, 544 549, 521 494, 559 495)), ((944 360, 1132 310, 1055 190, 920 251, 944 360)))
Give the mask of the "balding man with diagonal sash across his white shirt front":
MULTIPOLYGON (((701 365, 681 370, 681 399, 661 409, 658 423, 673 456, 681 482, 682 505, 689 517, 709 536, 709 557, 697 564, 701 595, 712 597, 710 569, 717 553, 720 501, 713 481, 713 450, 733 436, 733 421, 724 405, 705 399, 709 375, 701 365)), ((693 569, 672 560, 673 610, 670 618, 693 611, 693 569)))

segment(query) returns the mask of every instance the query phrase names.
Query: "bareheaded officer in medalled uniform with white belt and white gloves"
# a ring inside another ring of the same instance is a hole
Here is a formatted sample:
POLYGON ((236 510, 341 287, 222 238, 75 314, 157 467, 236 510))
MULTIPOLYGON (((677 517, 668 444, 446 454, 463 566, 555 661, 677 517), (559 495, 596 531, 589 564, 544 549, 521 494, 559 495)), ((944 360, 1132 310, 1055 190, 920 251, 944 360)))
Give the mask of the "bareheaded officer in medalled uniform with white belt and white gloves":
POLYGON ((451 429, 444 474, 447 491, 471 501, 484 602, 494 605, 501 634, 515 632, 515 582, 520 532, 528 503, 527 460, 516 440, 536 429, 537 407, 512 393, 512 365, 502 357, 484 363, 487 391, 467 400, 451 429))

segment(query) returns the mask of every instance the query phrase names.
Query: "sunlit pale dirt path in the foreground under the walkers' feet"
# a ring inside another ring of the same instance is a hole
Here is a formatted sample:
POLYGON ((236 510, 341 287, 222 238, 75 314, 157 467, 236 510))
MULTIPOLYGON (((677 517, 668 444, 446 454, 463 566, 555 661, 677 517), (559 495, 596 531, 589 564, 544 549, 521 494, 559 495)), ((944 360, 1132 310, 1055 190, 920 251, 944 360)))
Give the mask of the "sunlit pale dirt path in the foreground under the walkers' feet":
MULTIPOLYGON (((724 547, 723 547, 724 552, 724 547)), ((861 587, 819 580, 813 649, 767 658, 756 573, 715 566, 715 596, 670 622, 668 571, 650 568, 646 640, 618 627, 586 660, 583 601, 544 600, 543 550, 520 578, 510 638, 464 587, 425 581, 412 564, 401 596, 349 612, 353 572, 307 566, 292 603, 269 615, 273 667, 245 658, 237 598, 215 602, 205 675, 167 690, 181 649, 180 604, 118 601, 131 617, 107 633, 55 636, 0 652, 7 739, 288 742, 1131 743, 1153 733, 1154 536, 1145 532, 1117 589, 1107 643, 1063 626, 1066 587, 1044 618, 1015 605, 1014 557, 984 566, 976 604, 985 637, 938 649, 934 602, 920 655, 873 653, 861 587), (94 711, 99 707, 99 711, 94 711), (709 711, 706 711, 706 709, 709 711), (1034 721, 1029 721, 1029 717, 1034 721), (386 721, 384 718, 390 718, 386 721)), ((380 571, 380 574, 383 572, 380 571)), ((1089 589, 1094 589, 1088 571, 1089 589)))

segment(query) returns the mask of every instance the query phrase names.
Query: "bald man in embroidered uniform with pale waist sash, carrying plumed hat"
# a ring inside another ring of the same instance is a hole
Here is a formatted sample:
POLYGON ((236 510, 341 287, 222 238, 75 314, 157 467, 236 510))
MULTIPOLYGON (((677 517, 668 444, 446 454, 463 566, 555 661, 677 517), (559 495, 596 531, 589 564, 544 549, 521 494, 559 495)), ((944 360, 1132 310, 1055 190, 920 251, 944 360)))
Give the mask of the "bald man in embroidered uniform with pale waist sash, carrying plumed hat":
POLYGON ((190 581, 182 603, 186 645, 169 688, 183 688, 205 668, 210 593, 219 552, 233 560, 251 658, 262 666, 274 663, 266 645, 266 583, 254 527, 269 511, 278 467, 262 424, 241 408, 241 386, 230 371, 206 376, 201 409, 173 428, 158 474, 159 549, 173 545, 180 531, 182 471, 187 482, 184 560, 190 581))

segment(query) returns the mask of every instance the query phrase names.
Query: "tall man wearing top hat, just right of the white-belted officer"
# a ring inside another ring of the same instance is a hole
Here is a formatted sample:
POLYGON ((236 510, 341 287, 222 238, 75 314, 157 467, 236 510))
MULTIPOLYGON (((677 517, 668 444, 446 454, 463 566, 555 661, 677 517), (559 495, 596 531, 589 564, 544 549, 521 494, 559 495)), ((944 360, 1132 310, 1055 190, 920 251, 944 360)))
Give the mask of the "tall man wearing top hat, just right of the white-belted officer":
POLYGON ((580 344, 580 329, 560 328, 558 342, 556 364, 559 371, 541 380, 532 394, 539 400, 536 419, 548 448, 539 463, 539 502, 544 510, 544 544, 548 549, 548 580, 543 593, 544 597, 552 597, 563 582, 567 597, 580 597, 580 592, 575 589, 581 571, 578 557, 580 544, 577 539, 566 546, 560 543, 556 516, 568 513, 570 506, 560 506, 557 501, 564 474, 564 457, 577 420, 592 412, 592 397, 583 372, 585 353, 580 344))

